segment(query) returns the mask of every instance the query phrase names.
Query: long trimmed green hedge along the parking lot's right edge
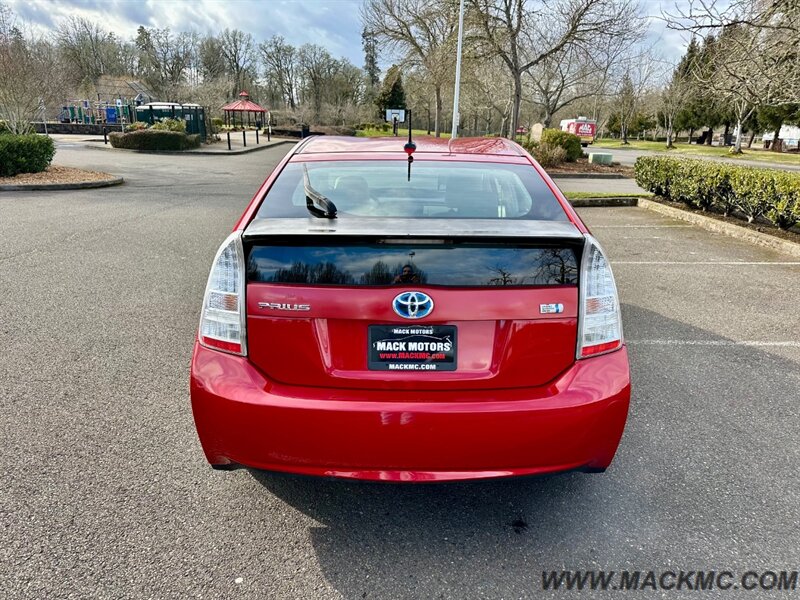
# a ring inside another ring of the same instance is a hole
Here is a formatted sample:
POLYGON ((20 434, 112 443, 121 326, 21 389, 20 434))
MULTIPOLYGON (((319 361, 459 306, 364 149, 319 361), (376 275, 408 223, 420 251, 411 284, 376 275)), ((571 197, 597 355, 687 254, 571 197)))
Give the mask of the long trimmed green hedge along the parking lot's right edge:
POLYGON ((669 156, 640 156, 633 169, 639 187, 695 208, 764 216, 781 229, 800 221, 800 173, 669 156))

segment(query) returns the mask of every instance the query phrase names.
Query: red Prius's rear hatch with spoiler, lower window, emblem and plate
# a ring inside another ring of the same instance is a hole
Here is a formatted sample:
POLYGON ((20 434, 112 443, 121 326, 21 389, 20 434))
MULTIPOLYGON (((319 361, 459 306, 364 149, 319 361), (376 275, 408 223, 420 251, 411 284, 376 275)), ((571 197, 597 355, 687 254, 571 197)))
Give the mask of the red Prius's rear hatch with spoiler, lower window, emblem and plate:
POLYGON ((253 221, 250 360, 286 384, 387 390, 541 386, 572 365, 571 223, 403 221, 253 221))

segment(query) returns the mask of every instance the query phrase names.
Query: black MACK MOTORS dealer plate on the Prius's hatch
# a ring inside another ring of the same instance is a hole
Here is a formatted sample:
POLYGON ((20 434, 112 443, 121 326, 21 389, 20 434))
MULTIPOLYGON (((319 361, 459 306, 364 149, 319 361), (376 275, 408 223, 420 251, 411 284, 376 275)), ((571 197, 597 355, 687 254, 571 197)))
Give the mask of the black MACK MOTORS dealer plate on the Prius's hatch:
POLYGON ((454 325, 370 325, 372 371, 455 371, 454 325))

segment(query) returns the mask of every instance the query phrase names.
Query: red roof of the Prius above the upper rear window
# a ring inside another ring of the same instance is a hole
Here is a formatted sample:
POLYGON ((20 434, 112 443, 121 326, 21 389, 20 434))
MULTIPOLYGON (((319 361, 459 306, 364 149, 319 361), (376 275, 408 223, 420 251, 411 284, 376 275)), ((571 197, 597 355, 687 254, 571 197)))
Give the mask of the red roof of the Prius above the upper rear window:
MULTIPOLYGON (((307 138, 295 151, 295 154, 339 154, 339 153, 374 153, 403 152, 407 142, 404 137, 344 137, 344 136, 312 136, 307 138)), ((413 138, 418 154, 468 154, 472 156, 525 156, 519 145, 501 137, 492 138, 457 138, 449 140, 429 136, 413 138)))

